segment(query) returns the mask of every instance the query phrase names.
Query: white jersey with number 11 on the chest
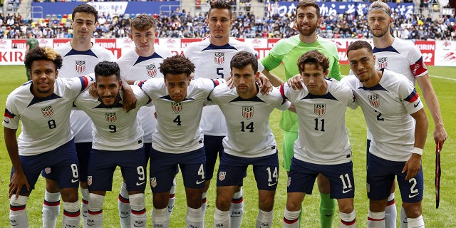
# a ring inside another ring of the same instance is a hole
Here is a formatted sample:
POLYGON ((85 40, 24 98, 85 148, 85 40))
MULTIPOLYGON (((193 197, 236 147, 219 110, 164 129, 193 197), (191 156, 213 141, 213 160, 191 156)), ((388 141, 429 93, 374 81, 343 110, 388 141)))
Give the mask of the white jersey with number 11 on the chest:
POLYGON ((328 78, 325 95, 312 95, 303 83, 303 90, 293 90, 286 83, 281 94, 296 108, 299 120, 298 140, 294 157, 304 162, 335 165, 350 162, 351 145, 345 125, 347 106, 356 108, 348 86, 328 78))

